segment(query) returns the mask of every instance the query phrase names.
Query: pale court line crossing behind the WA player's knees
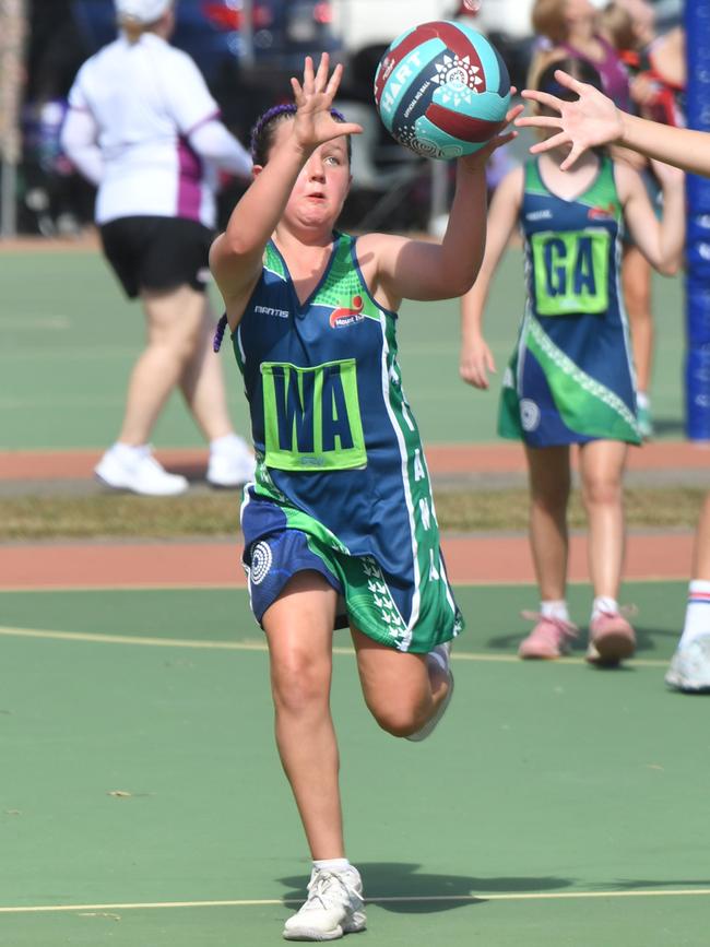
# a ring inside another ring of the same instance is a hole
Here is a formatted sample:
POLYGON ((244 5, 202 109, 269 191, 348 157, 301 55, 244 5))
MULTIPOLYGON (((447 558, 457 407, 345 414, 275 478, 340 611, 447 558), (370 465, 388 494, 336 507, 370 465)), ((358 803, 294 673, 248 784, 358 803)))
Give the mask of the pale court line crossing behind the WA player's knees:
MULTIPOLYGON (((144 648, 191 648, 198 651, 268 651, 265 641, 200 641, 192 638, 133 638, 130 635, 94 635, 88 631, 51 631, 39 628, 5 628, 0 635, 13 638, 42 638, 56 641, 87 641, 99 644, 135 644, 144 648)), ((351 654, 352 648, 333 648, 333 654, 351 654)), ((473 651, 453 651, 453 661, 482 661, 498 664, 520 664, 517 654, 485 654, 473 651)), ((665 667, 668 663, 660 658, 631 659, 635 667, 665 667)), ((560 658, 557 664, 585 664, 583 658, 560 658)))

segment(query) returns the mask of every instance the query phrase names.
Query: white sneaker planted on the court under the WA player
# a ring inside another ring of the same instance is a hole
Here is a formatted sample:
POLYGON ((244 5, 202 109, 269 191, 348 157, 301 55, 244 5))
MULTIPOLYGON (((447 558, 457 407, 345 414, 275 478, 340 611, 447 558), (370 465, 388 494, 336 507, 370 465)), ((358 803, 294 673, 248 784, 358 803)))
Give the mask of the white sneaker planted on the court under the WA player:
POLYGON ((364 931, 366 918, 363 881, 357 868, 327 872, 313 868, 308 898, 286 921, 286 940, 338 940, 343 934, 364 931))

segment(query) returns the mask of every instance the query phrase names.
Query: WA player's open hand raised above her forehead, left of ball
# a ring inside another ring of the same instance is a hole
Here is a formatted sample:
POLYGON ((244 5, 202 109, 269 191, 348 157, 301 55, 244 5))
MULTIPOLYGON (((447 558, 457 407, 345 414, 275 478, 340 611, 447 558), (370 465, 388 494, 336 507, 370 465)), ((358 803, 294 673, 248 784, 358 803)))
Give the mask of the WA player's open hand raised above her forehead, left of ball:
POLYGON ((317 72, 313 71, 313 60, 307 56, 303 84, 295 78, 291 80, 297 106, 294 135, 299 147, 307 153, 341 134, 359 134, 363 131, 359 125, 335 121, 330 114, 343 67, 339 63, 330 78, 329 68, 330 57, 327 52, 320 57, 317 72))

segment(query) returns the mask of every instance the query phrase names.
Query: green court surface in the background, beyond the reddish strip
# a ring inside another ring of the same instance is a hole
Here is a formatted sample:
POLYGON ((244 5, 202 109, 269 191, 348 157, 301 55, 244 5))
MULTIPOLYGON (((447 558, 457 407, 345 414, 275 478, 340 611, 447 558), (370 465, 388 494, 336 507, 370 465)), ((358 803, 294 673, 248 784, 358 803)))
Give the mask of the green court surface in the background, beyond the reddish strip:
MULTIPOLYGON (((97 252, 0 253, 0 450, 100 448, 118 430, 127 379, 143 340, 140 305, 126 300, 97 252)), ((458 303, 405 303, 400 321, 404 384, 425 441, 492 441, 497 393, 523 300, 522 260, 510 250, 487 309, 498 365, 487 393, 459 379, 458 303)), ((216 298, 215 298, 216 305, 216 298)), ((684 319, 681 279, 654 282, 659 436, 682 434, 684 319)), ((221 356, 237 426, 246 402, 229 346, 221 356)), ((162 447, 199 445, 177 395, 156 427, 162 447)))

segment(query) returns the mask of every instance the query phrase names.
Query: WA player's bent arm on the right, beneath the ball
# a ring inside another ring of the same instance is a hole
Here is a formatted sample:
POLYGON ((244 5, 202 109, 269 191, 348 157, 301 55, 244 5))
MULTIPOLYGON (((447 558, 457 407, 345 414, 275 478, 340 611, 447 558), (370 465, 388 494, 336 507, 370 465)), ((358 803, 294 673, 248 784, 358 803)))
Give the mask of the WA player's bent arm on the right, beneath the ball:
MULTIPOLYGON (((520 115, 511 108, 507 121, 520 115)), ((362 254, 376 258, 372 288, 397 309, 402 299, 450 299, 461 296, 476 277, 486 246, 486 176, 490 154, 517 132, 497 135, 457 165, 457 189, 449 223, 440 244, 370 234, 360 241, 362 254)))

